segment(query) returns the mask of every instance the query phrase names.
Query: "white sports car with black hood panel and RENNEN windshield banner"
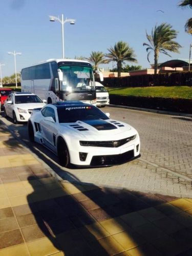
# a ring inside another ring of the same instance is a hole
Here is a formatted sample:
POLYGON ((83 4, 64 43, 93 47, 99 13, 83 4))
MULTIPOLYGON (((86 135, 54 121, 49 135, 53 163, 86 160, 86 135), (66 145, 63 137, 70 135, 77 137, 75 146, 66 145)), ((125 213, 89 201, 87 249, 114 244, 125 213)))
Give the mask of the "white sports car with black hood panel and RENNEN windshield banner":
POLYGON ((34 109, 28 121, 31 141, 44 144, 62 166, 110 166, 140 156, 138 132, 80 101, 34 109))

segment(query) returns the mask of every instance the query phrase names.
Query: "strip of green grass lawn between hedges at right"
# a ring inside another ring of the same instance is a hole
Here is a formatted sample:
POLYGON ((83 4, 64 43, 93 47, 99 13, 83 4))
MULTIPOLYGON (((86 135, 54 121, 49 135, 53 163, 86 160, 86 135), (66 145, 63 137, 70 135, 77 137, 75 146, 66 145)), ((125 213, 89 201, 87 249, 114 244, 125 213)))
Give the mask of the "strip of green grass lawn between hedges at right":
POLYGON ((182 98, 192 99, 192 87, 188 86, 158 86, 158 87, 128 87, 128 88, 109 88, 109 94, 143 96, 143 97, 162 97, 162 98, 182 98))

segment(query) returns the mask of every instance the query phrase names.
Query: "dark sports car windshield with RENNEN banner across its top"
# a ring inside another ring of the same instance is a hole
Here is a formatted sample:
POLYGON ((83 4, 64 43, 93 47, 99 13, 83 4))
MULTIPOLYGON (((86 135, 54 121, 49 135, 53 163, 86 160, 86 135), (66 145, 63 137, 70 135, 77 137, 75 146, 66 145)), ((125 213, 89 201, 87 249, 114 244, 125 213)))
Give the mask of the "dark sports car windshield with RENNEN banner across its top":
POLYGON ((57 108, 59 123, 72 123, 83 120, 109 119, 95 106, 60 106, 57 108))

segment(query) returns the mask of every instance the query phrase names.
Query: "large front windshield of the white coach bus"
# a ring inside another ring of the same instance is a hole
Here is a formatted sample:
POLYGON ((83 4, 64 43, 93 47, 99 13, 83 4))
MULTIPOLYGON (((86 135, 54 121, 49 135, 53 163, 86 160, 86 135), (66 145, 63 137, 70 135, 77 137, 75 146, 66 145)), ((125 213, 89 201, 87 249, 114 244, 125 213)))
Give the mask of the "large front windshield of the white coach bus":
POLYGON ((94 88, 93 70, 82 66, 60 66, 63 73, 61 91, 92 91, 94 88))

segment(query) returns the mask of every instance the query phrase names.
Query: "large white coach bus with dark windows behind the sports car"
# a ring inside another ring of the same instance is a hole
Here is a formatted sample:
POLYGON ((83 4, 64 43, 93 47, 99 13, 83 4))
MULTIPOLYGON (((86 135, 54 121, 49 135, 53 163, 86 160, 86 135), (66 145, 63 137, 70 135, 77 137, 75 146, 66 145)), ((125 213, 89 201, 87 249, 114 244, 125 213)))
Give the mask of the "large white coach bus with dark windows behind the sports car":
MULTIPOLYGON (((100 80, 103 80, 99 73, 100 80)), ((95 79, 88 61, 49 59, 22 69, 22 92, 35 93, 48 103, 80 100, 96 105, 95 79)))

